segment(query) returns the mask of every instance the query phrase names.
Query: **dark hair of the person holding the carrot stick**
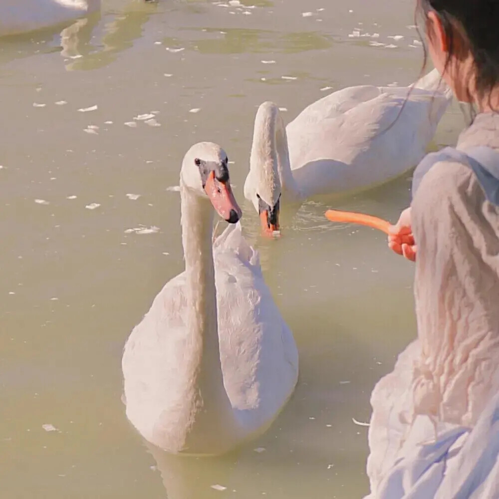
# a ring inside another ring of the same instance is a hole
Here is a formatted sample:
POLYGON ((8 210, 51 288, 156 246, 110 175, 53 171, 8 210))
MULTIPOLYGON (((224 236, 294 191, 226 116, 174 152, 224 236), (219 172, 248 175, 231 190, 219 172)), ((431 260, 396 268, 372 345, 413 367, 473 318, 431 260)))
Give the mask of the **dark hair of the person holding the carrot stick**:
MULTIPOLYGON (((418 0, 416 17, 423 15, 426 21, 430 10, 439 16, 449 40, 445 68, 451 57, 465 57, 471 52, 475 73, 467 77, 475 78, 481 99, 489 94, 491 105, 491 91, 499 83, 499 0, 418 0)), ((428 52, 423 46, 426 65, 428 52)))

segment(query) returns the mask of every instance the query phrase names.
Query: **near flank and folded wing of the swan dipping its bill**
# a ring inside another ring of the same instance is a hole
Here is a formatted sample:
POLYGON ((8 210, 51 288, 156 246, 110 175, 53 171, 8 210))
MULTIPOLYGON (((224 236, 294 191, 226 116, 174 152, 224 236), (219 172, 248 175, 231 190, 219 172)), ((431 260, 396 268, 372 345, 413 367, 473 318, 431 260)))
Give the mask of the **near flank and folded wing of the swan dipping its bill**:
POLYGON ((415 166, 449 99, 419 88, 407 98, 408 91, 385 87, 340 116, 303 128, 288 125, 291 168, 300 189, 307 196, 362 189, 415 166))

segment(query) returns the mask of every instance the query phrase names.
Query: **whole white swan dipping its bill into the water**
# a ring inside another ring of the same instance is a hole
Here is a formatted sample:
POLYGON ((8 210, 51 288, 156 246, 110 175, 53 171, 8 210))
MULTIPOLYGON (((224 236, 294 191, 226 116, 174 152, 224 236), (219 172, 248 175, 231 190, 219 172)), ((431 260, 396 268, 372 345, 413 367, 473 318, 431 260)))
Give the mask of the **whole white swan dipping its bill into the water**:
POLYGON ((361 190, 416 166, 452 91, 434 69, 409 97, 408 92, 407 87, 344 88, 306 107, 286 127, 274 103, 261 104, 244 193, 262 230, 279 229, 282 203, 361 190))

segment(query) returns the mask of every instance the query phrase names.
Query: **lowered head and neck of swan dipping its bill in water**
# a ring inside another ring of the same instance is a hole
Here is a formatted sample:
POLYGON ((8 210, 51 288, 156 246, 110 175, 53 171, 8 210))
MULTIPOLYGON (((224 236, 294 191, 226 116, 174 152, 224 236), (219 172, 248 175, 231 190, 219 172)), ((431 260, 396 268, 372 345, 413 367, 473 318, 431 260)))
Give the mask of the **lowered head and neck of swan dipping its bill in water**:
POLYGON ((250 173, 245 183, 245 197, 251 201, 260 217, 264 234, 279 231, 281 180, 279 146, 284 122, 273 102, 263 102, 254 120, 250 155, 250 173))

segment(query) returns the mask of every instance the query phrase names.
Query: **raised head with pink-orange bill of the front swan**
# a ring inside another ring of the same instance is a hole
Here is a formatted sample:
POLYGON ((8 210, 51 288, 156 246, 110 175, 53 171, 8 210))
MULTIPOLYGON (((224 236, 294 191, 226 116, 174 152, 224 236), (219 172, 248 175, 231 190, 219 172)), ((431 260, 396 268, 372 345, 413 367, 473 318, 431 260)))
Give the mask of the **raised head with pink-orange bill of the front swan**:
POLYGON ((180 172, 181 185, 209 199, 215 211, 230 224, 243 212, 232 192, 226 152, 213 142, 199 142, 187 151, 180 172))

